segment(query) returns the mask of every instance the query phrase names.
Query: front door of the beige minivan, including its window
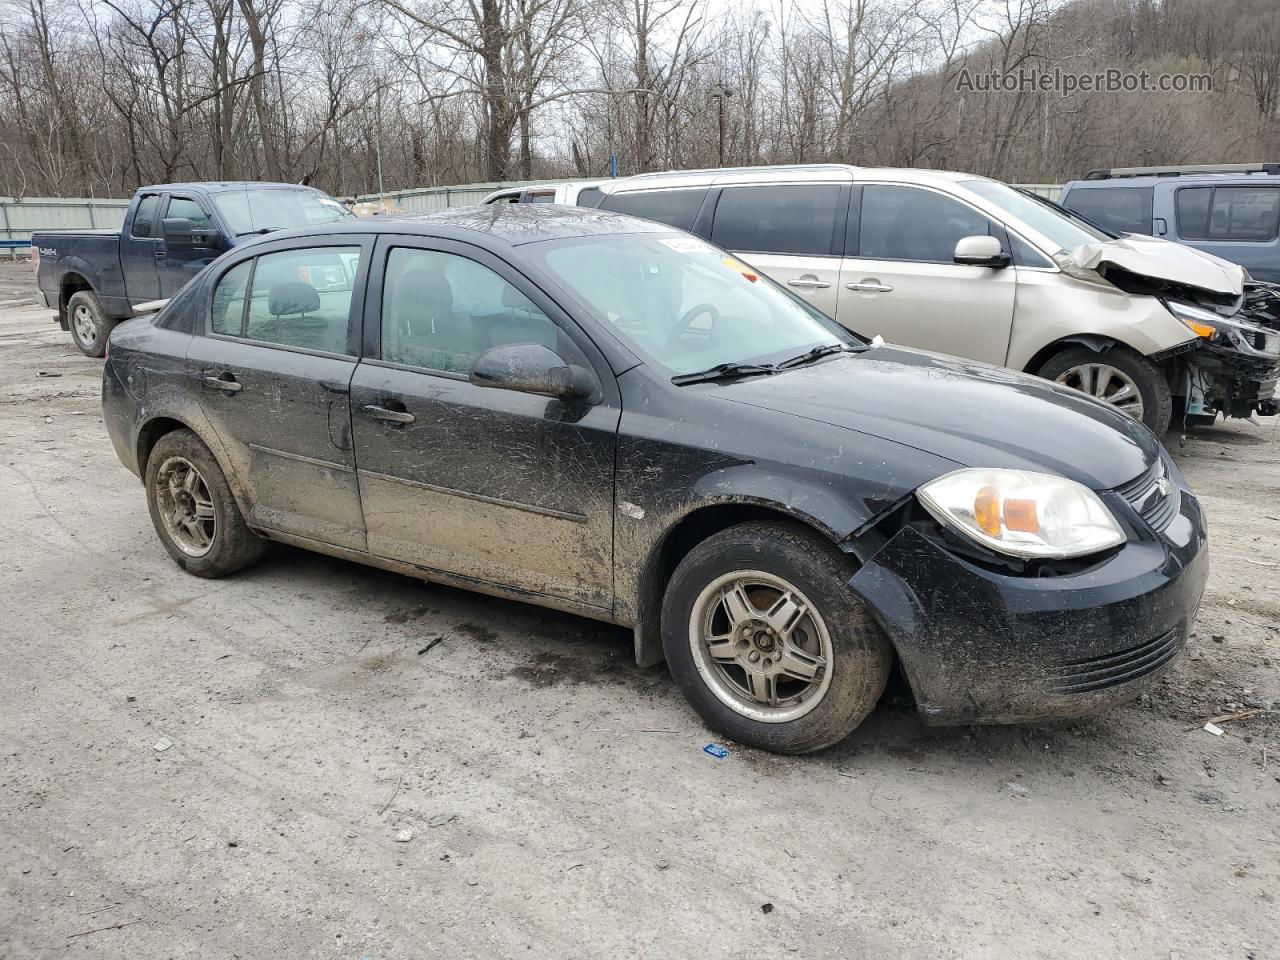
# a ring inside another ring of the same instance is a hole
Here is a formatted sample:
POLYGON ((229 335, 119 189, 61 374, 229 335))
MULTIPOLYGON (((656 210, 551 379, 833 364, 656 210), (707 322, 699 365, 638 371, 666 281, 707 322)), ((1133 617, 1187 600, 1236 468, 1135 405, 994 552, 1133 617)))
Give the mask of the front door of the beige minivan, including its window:
MULTIPOLYGON (((1004 366, 1018 273, 952 260, 963 237, 1005 229, 924 187, 870 183, 861 228, 846 253, 837 320, 863 337, 1004 366)), ((855 211, 850 210, 850 216, 855 211)))

